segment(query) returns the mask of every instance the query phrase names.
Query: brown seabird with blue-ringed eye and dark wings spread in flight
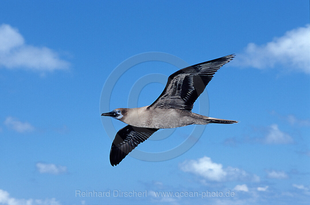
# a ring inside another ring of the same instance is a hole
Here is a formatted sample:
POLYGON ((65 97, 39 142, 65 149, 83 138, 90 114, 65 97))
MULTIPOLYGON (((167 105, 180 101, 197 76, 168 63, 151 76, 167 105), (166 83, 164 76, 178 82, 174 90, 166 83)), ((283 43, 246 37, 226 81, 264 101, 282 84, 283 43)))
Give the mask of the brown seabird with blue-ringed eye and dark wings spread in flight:
POLYGON ((118 165, 134 148, 159 129, 232 124, 239 121, 207 117, 192 112, 194 102, 206 88, 216 71, 235 57, 234 54, 188 66, 168 77, 160 96, 149 106, 117 108, 101 116, 110 116, 127 125, 120 129, 110 150, 110 163, 118 165))

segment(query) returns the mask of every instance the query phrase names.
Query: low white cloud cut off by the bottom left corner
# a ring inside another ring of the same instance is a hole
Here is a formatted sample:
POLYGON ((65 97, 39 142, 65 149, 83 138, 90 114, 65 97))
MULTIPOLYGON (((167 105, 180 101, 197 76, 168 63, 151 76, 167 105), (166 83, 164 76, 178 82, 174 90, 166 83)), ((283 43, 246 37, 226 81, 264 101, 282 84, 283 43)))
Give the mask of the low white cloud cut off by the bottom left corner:
POLYGON ((10 194, 7 191, 0 189, 0 204, 2 205, 58 205, 59 201, 56 201, 55 198, 51 199, 16 199, 10 197, 10 194))

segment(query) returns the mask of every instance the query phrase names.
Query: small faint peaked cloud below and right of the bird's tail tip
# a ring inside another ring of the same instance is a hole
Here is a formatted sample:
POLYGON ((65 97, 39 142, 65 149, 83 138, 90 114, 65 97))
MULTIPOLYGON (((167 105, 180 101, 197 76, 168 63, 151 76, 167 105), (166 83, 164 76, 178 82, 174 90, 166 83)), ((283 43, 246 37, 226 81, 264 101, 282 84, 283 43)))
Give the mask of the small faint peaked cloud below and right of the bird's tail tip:
POLYGON ((266 144, 290 144, 293 143, 293 138, 287 134, 279 130, 278 125, 272 124, 270 125, 269 132, 266 135, 264 142, 266 144))

